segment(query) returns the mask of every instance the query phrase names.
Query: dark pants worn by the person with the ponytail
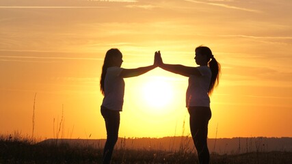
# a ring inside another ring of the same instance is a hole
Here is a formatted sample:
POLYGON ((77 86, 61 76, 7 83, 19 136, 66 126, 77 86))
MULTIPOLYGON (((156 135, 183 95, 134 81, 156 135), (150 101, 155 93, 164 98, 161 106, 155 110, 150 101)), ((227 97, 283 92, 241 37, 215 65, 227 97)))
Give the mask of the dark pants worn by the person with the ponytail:
POLYGON ((208 124, 211 119, 210 107, 189 107, 189 126, 191 137, 198 152, 200 164, 209 164, 210 154, 207 146, 208 124))

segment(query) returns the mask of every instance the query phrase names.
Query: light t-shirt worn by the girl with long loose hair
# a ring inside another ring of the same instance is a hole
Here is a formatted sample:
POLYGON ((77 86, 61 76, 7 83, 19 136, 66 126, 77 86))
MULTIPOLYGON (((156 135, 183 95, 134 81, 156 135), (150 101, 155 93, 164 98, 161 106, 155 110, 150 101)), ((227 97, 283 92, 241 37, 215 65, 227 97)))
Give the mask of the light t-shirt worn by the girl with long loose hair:
POLYGON ((101 106, 114 111, 122 111, 124 103, 124 79, 120 77, 123 68, 109 67, 105 74, 105 97, 101 106))

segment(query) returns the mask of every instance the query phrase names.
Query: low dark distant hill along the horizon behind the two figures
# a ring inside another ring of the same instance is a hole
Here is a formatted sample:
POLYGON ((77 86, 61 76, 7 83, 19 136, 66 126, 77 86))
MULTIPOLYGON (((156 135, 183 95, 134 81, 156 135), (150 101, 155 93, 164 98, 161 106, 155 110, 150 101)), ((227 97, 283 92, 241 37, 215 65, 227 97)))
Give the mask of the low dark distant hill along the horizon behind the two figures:
MULTIPOLYGON (((42 143, 65 143, 70 146, 103 148, 105 139, 46 139, 42 143)), ((210 153, 239 154, 245 152, 292 152, 291 137, 235 137, 208 139, 210 153)), ((116 148, 135 150, 189 151, 195 150, 191 137, 119 138, 116 148)))

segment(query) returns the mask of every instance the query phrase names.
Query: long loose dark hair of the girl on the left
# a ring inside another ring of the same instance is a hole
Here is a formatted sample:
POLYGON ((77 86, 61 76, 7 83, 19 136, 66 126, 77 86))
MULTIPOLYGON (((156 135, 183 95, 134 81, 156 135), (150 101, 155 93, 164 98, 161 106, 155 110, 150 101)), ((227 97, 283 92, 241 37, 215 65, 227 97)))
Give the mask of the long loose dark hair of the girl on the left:
POLYGON ((122 55, 122 53, 118 49, 109 49, 107 53, 105 54, 105 59, 103 61, 103 68, 101 72, 101 81, 100 81, 101 94, 103 95, 105 95, 105 74, 107 74, 107 68, 114 66, 113 57, 117 57, 118 55, 122 55))

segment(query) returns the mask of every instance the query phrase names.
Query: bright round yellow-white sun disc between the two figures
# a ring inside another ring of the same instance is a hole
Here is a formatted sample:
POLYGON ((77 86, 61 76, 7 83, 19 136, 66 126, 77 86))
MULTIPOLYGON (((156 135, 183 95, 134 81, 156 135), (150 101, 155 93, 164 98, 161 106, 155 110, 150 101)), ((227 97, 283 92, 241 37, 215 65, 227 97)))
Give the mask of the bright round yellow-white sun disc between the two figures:
POLYGON ((148 107, 165 109, 174 98, 174 90, 169 81, 152 79, 145 81, 142 87, 145 103, 148 107))

